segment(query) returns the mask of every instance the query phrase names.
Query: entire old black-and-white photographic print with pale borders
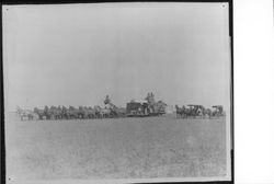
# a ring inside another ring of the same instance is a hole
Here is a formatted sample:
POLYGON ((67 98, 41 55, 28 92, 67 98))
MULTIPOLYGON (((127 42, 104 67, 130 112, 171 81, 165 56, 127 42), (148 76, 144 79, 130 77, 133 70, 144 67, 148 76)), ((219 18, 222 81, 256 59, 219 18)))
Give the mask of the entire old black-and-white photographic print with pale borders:
POLYGON ((2 5, 7 183, 231 181, 229 5, 2 5))

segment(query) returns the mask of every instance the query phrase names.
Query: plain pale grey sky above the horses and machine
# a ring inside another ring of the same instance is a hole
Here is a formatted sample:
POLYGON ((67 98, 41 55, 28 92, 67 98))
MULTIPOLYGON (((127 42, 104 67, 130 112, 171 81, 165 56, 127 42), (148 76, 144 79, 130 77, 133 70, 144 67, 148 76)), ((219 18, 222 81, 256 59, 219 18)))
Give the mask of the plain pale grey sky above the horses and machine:
POLYGON ((227 3, 3 5, 4 104, 229 107, 227 3))

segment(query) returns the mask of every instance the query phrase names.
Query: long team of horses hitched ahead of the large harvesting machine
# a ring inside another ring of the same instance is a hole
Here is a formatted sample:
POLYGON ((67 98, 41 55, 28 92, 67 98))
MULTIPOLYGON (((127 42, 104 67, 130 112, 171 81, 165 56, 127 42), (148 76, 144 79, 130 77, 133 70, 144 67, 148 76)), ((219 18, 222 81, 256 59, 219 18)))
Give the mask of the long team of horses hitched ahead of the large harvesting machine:
POLYGON ((16 111, 21 120, 23 119, 87 119, 87 118, 112 118, 112 117, 125 117, 126 108, 112 107, 105 108, 99 105, 91 106, 45 106, 43 110, 35 107, 33 111, 22 110, 18 107, 16 111))

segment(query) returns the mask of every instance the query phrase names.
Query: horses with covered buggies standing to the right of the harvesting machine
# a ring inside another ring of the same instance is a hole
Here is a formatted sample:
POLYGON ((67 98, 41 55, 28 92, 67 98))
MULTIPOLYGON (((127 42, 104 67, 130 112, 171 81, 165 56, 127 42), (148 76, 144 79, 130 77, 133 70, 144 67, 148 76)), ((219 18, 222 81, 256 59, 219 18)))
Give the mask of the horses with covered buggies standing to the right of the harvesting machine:
POLYGON ((205 108, 203 105, 187 105, 179 107, 175 105, 176 117, 178 118, 213 118, 213 117, 222 117, 226 115, 221 105, 215 105, 212 108, 205 108))

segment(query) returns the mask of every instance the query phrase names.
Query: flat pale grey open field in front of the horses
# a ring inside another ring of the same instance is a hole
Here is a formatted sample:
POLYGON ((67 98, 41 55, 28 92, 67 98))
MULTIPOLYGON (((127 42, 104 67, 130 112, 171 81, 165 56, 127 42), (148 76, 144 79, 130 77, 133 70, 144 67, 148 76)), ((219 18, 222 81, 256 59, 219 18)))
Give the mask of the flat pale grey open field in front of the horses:
POLYGON ((225 119, 7 120, 10 180, 226 174, 225 119))

